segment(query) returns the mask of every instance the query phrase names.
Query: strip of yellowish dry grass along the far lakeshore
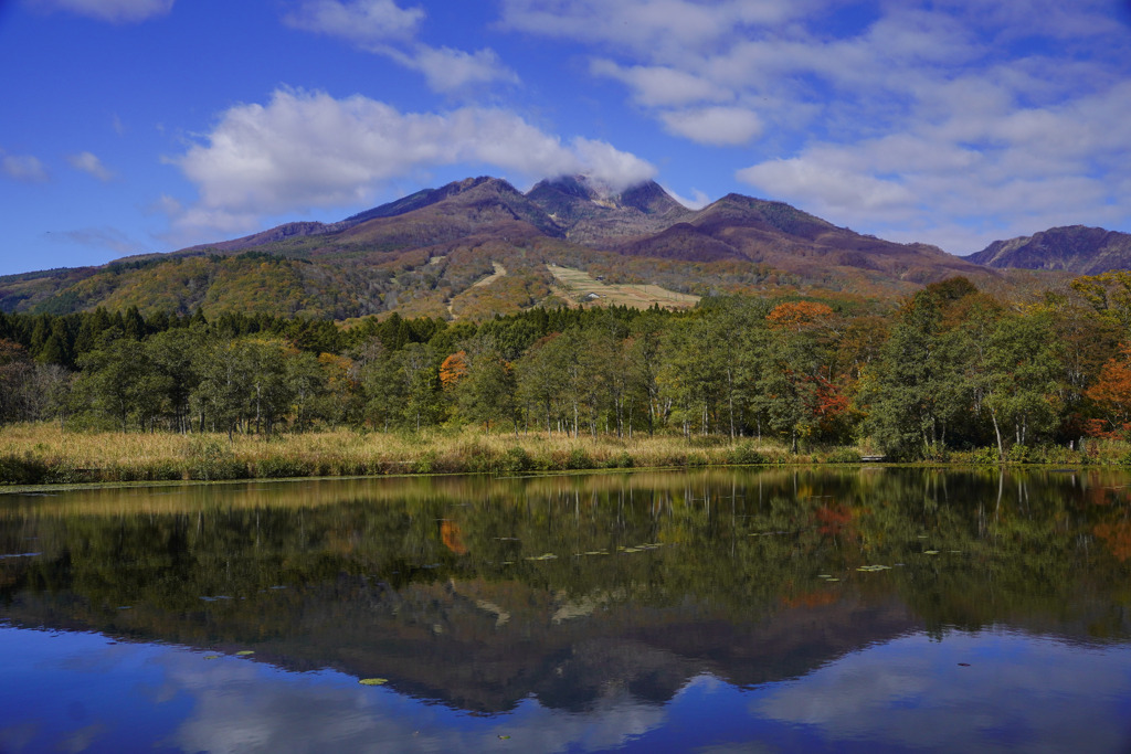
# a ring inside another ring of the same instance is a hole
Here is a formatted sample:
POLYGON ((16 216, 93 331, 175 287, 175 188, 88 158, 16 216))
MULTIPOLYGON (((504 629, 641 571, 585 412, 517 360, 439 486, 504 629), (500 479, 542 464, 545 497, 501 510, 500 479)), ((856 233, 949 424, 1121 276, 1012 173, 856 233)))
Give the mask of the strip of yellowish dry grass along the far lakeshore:
MULTIPOLYGON (((996 463, 988 449, 952 452, 934 462, 996 463)), ((1131 459, 1123 442, 1088 443, 1083 452, 1034 449, 1015 462, 1115 466, 1131 459)), ((0 428, 0 485, 245 479, 389 474, 563 471, 633 467, 753 463, 852 463, 855 448, 789 453, 774 441, 638 435, 632 439, 482 431, 422 434, 339 430, 271 437, 223 434, 80 433, 54 425, 0 428)))

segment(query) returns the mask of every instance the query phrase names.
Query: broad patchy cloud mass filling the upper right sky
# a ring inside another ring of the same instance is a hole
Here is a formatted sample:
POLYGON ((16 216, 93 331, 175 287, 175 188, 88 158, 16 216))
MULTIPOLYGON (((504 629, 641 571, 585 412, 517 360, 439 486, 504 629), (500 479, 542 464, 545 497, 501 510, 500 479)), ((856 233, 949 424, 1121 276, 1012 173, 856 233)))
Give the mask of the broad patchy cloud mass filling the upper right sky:
POLYGON ((1110 0, 843 6, 502 0, 502 23, 587 45, 590 75, 668 133, 750 146, 740 181, 838 224, 960 253, 1126 227, 1131 84, 1110 0))

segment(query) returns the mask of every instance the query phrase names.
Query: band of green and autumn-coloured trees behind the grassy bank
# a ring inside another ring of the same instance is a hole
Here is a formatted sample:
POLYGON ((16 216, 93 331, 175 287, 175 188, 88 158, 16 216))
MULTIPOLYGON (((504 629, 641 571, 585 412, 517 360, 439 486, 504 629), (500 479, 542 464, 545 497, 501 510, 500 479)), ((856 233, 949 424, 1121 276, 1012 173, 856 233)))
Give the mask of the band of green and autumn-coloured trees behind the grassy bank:
POLYGON ((888 311, 708 297, 484 322, 0 314, 0 422, 270 434, 327 426, 867 441, 898 458, 1124 437, 1131 275, 1019 304, 965 278, 888 311))

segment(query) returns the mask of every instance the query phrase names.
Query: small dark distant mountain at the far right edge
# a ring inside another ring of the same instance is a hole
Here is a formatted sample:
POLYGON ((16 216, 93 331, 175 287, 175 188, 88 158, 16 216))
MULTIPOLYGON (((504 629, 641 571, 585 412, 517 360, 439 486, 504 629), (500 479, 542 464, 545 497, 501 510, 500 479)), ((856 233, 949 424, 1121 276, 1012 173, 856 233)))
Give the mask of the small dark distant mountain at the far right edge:
POLYGON ((1076 275, 1131 270, 1131 234, 1082 225, 1054 227, 994 241, 966 259, 996 269, 1064 270, 1076 275))

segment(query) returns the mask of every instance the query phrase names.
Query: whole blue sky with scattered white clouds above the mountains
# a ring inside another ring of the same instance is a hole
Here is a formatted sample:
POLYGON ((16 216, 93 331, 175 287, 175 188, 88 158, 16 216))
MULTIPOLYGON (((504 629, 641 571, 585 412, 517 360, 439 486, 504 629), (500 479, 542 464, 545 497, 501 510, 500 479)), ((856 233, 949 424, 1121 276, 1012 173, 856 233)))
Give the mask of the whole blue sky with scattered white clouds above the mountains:
POLYGON ((498 175, 1131 232, 1126 0, 0 0, 0 275, 498 175))

